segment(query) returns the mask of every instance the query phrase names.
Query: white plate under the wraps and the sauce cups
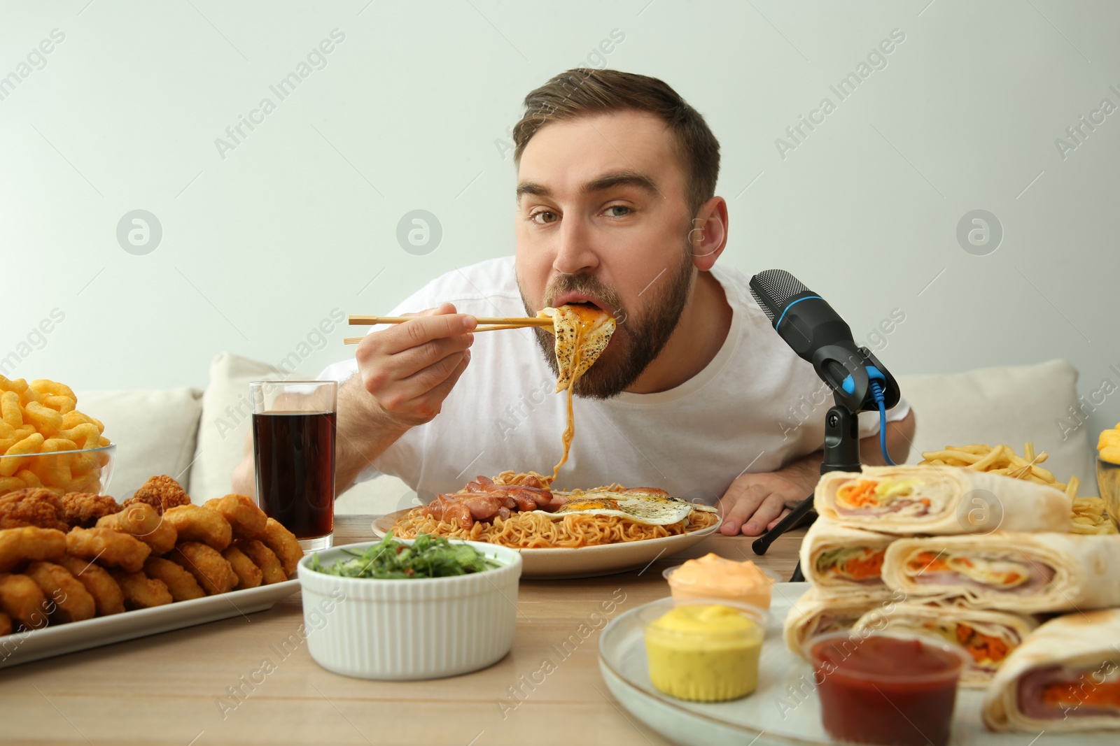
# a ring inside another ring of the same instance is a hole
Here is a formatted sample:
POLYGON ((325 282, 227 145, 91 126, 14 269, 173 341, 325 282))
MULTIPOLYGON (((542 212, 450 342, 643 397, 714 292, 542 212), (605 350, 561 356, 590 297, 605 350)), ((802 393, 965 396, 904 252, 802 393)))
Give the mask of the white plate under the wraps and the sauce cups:
MULTIPOLYGON (((688 746, 788 746, 833 744, 821 724, 821 705, 812 691, 812 667, 794 655, 782 639, 782 622, 790 607, 809 589, 809 583, 777 583, 771 606, 763 654, 758 663, 758 689, 730 702, 687 702, 662 695, 650 681, 638 606, 615 617, 599 635, 599 670, 610 693, 634 717, 665 738, 688 746), (808 682, 808 683, 806 683, 808 682), (806 696, 801 701, 791 689, 806 696), (780 705, 784 702, 784 705, 780 705), (784 718, 783 718, 784 715, 784 718), (754 739, 754 740, 752 740, 754 739)), ((960 689, 953 714, 951 743, 1025 746, 1032 744, 1109 744, 1116 731, 997 734, 980 719, 982 689, 960 689), (1038 736, 1035 740, 1030 740, 1038 736)))

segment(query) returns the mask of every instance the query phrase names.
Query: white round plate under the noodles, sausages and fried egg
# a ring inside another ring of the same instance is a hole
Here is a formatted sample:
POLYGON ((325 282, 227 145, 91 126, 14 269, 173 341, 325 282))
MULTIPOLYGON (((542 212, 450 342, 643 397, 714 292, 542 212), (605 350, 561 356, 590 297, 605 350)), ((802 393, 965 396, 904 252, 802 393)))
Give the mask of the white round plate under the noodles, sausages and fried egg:
MULTIPOLYGON (((373 521, 373 532, 383 537, 396 519, 410 509, 398 510, 373 521)), ((661 539, 605 544, 599 547, 579 549, 519 549, 521 553, 521 577, 523 578, 572 578, 612 575, 645 567, 659 557, 672 557, 703 540, 719 528, 717 522, 708 528, 666 536, 661 539)))

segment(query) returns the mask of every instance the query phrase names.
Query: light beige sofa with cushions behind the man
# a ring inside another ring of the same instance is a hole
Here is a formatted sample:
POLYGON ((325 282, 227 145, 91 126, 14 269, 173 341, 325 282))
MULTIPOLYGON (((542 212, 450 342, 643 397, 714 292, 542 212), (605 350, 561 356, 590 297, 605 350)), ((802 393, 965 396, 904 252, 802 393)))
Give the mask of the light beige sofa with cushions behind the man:
MULTIPOLYGON (((116 443, 109 493, 128 498, 152 474, 175 476, 196 503, 230 491, 251 423, 249 383, 278 379, 272 366, 223 352, 205 390, 78 390, 78 408, 105 423, 116 443)), ((291 372, 290 380, 315 375, 291 372)), ((1094 452, 1082 428, 1063 434, 1058 423, 1076 406, 1077 371, 1065 360, 959 374, 899 376, 917 416, 908 463, 948 444, 1008 443, 1023 452, 1032 441, 1049 454, 1046 469, 1065 481, 1076 475, 1083 494, 1095 494, 1094 452)), ((404 482, 388 475, 360 483, 336 501, 337 513, 383 514, 417 504, 404 482)))

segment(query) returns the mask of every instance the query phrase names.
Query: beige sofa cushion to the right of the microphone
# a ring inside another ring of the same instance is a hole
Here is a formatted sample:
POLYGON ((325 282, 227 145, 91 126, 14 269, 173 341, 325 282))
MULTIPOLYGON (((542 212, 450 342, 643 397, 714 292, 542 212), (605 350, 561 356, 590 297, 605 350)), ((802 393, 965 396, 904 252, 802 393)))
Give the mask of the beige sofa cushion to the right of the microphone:
POLYGON ((1046 469, 1058 481, 1076 475, 1081 494, 1096 494, 1093 451, 1086 431, 1063 435, 1058 423, 1077 405, 1077 370, 1065 360, 1033 366, 978 368, 960 374, 899 376, 903 396, 914 407, 917 434, 908 463, 922 451, 946 445, 1007 443, 1019 455, 1030 441, 1049 454, 1046 469))

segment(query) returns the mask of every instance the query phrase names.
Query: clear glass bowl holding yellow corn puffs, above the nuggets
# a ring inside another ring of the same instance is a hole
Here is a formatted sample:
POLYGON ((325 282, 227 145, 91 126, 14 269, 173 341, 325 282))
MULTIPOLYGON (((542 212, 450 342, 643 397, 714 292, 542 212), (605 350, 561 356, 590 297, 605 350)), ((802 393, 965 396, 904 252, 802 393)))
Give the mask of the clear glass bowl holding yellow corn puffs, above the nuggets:
POLYGON ((115 443, 81 451, 0 456, 0 495, 29 487, 104 494, 115 457, 115 443))

